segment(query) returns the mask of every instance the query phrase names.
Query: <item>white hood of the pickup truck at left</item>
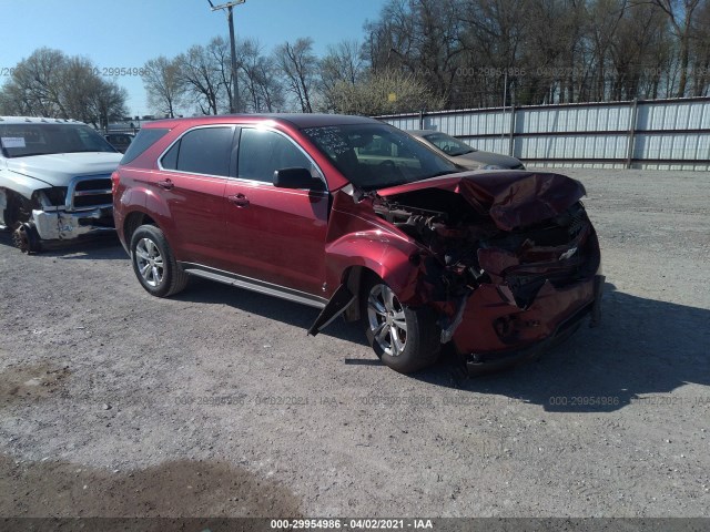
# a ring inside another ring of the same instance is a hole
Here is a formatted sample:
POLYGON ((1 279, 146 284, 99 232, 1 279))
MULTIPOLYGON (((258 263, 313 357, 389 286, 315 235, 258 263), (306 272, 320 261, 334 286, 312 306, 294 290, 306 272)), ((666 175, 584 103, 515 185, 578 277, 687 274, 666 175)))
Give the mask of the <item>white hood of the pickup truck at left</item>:
POLYGON ((43 181, 51 186, 67 186, 78 175, 110 174, 123 155, 109 152, 57 153, 8 158, 8 170, 43 181))

